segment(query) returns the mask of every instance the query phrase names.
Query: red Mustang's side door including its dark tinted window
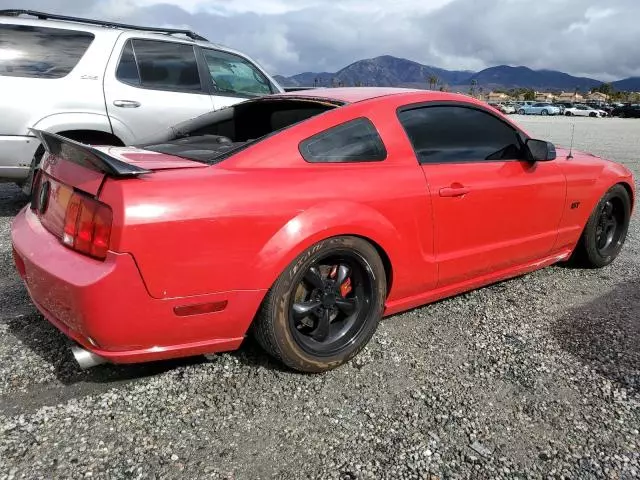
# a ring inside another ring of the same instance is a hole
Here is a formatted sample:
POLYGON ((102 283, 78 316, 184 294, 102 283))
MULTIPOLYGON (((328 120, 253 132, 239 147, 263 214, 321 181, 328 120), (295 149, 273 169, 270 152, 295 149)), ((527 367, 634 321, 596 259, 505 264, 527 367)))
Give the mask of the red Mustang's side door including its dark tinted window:
POLYGON ((519 132, 471 104, 398 115, 429 185, 439 287, 552 253, 566 191, 556 162, 524 160, 519 132))

